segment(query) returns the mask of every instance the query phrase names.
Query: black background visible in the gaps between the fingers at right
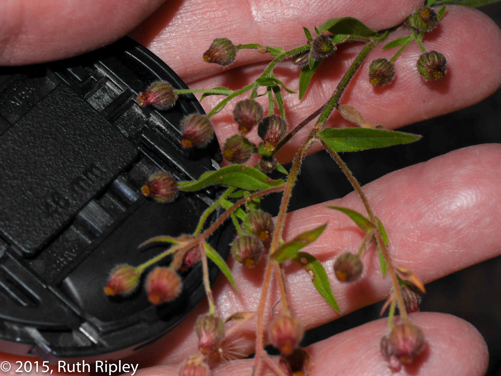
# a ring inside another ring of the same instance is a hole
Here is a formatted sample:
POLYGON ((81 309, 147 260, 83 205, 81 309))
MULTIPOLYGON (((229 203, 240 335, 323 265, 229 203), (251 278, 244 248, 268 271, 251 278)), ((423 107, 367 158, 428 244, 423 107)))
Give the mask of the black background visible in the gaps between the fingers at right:
MULTIPOLYGON (((501 3, 479 8, 501 25, 501 3)), ((427 161, 451 150, 501 143, 501 90, 484 101, 454 113, 401 128, 423 138, 386 149, 344 153, 343 159, 363 185, 389 172, 427 161)), ((501 162, 501 161, 500 161, 501 162)), ((290 168, 290 165, 286 166, 290 168)), ((500 163, 501 168, 501 163, 500 163)), ((500 182, 501 189, 501 182, 500 182)), ((305 159, 290 210, 345 196, 353 188, 325 152, 305 159), (315 187, 315 190, 312 190, 315 187)), ((267 199, 271 212, 279 202, 267 199)), ((422 311, 445 312, 473 324, 489 349, 488 376, 501 376, 501 256, 426 285, 422 311)), ((306 333, 303 345, 379 318, 382 302, 372 304, 306 333)), ((272 351, 272 348, 269 349, 272 351)))

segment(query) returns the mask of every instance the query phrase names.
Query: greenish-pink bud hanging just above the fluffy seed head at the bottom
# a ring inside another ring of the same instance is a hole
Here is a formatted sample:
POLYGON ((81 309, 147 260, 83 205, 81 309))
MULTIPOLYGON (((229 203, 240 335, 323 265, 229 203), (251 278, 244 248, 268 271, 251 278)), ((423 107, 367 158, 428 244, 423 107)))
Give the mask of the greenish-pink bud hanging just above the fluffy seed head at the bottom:
POLYGON ((224 338, 224 323, 219 316, 211 313, 201 314, 196 319, 195 332, 198 336, 198 349, 203 354, 215 353, 224 338))

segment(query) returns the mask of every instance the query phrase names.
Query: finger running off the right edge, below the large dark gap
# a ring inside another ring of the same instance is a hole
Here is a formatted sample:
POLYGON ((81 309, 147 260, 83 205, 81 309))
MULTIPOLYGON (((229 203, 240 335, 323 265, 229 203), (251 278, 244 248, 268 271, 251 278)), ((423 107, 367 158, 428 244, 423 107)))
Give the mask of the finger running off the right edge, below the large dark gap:
MULTIPOLYGON (((481 145, 450 152, 391 174, 364 186, 371 206, 386 227, 389 251, 397 265, 413 270, 424 282, 430 282, 501 252, 501 233, 497 223, 501 213, 498 162, 501 145, 481 145)), ((341 311, 346 314, 364 305, 384 299, 390 291, 389 277, 382 278, 374 245, 363 255, 363 277, 354 283, 338 282, 333 263, 343 252, 356 252, 364 234, 345 214, 327 205, 349 207, 364 212, 353 192, 343 199, 329 201, 289 213, 284 239, 328 223, 322 235, 305 250, 317 257, 329 275, 341 311)), ((236 311, 255 311, 261 293, 264 262, 257 270, 244 269, 228 259, 240 295, 224 278, 214 285, 216 307, 227 317, 236 311)), ((294 263, 286 263, 289 303, 293 313, 307 329, 337 317, 318 294, 308 273, 294 263)), ((278 287, 272 283, 265 309, 265 321, 271 320, 272 305, 279 300, 278 287)), ((196 352, 194 324, 197 315, 206 312, 200 305, 182 325, 147 350, 148 359, 139 353, 133 361, 142 364, 166 364, 182 361, 196 352), (146 360, 146 362, 144 362, 146 360)), ((241 341, 253 352, 252 338, 246 333, 241 341)))

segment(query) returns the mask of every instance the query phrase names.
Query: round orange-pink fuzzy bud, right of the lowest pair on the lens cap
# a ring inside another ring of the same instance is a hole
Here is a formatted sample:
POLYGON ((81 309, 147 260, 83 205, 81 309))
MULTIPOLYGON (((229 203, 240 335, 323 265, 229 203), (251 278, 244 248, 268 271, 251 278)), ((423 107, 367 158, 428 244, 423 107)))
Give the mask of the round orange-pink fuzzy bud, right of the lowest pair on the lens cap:
POLYGON ((174 300, 181 293, 181 288, 181 278, 170 268, 157 266, 146 278, 148 300, 155 305, 174 300))

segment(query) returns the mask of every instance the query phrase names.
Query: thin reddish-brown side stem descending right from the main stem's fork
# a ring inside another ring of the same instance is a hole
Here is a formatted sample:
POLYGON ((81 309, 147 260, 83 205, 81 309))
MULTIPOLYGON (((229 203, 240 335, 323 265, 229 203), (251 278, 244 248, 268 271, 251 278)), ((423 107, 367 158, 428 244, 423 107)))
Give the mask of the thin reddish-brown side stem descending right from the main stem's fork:
POLYGON ((320 140, 320 142, 322 143, 324 149, 332 156, 332 158, 339 165, 339 167, 341 168, 341 170, 343 171, 343 173, 345 174, 346 178, 349 180, 355 191, 357 191, 358 195, 360 196, 360 199, 362 200, 365 206, 365 210, 367 210, 367 214, 369 215, 369 220, 376 225, 374 235, 376 236, 376 241, 379 245, 379 248, 381 249, 381 253, 383 254, 384 260, 388 265, 388 272, 390 273, 393 289, 395 290, 395 295, 397 298, 400 315, 402 316, 404 321, 407 321, 407 311, 405 310, 405 304, 403 301, 402 292, 400 291, 400 286, 398 284, 398 279, 395 273, 395 268, 393 266, 393 261, 391 260, 391 257, 388 253, 388 248, 386 248, 386 244, 384 244, 383 237, 381 236, 381 232, 379 231, 379 227, 377 226, 376 216, 374 215, 374 212, 372 211, 372 208, 369 205, 369 201, 367 200, 365 193, 362 191, 360 183, 357 181, 355 176, 353 176, 350 169, 348 168, 348 166, 346 166, 346 164, 343 162, 338 153, 332 150, 323 140, 320 140))

